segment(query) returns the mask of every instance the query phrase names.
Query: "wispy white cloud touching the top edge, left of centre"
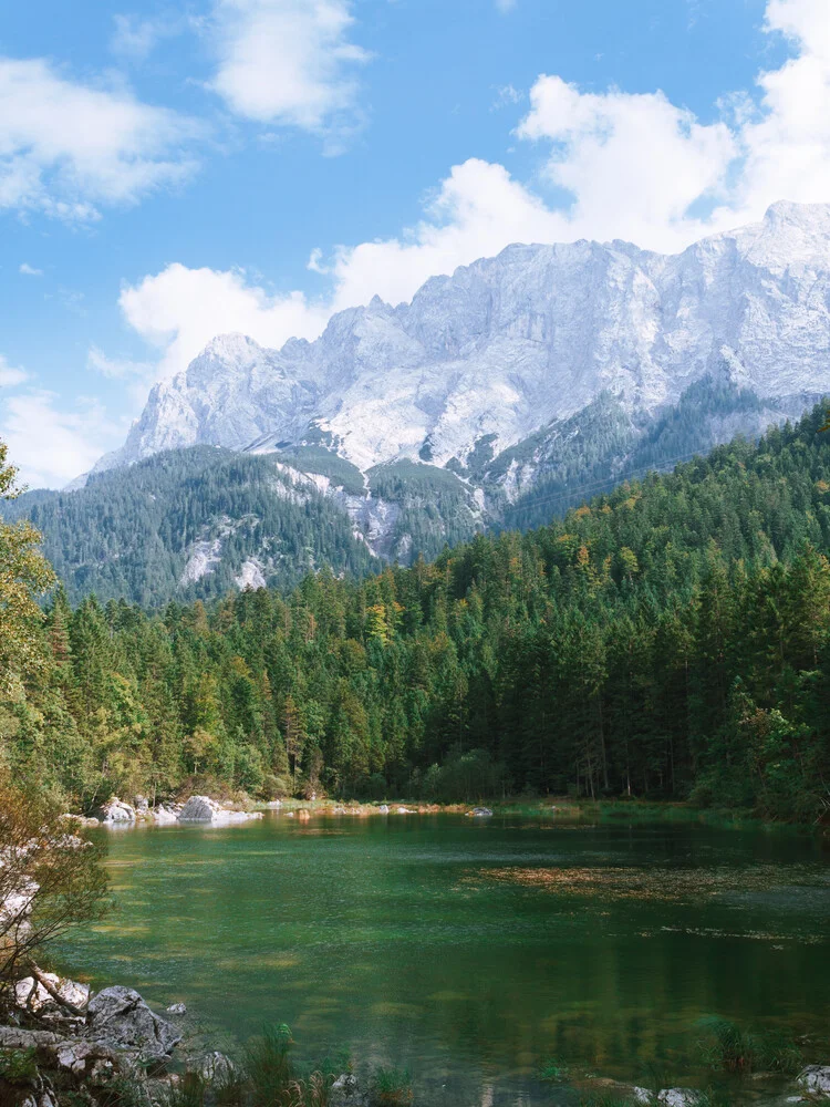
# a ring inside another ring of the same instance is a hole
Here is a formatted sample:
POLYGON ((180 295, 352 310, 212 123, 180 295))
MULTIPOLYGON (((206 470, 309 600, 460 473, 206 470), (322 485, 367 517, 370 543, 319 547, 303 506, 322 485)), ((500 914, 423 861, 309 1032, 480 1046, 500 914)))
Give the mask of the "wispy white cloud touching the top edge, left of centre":
POLYGON ((312 132, 355 122, 351 0, 217 0, 219 65, 210 87, 238 115, 312 132))

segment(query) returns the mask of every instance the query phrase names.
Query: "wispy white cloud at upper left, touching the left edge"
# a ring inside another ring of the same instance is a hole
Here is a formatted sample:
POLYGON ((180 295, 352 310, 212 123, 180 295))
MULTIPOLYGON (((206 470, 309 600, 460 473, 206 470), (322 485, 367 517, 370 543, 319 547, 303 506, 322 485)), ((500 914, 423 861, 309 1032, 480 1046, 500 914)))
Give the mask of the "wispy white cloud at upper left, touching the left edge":
POLYGON ((201 127, 124 89, 73 82, 41 59, 0 58, 0 208, 90 220, 185 178, 201 127))

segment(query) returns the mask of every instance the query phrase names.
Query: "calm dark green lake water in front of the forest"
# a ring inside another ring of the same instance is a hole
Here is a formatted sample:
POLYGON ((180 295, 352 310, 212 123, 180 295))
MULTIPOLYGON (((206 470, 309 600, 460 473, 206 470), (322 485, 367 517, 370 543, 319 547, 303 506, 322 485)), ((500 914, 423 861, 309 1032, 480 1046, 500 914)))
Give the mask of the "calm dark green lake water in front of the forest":
POLYGON ((699 1082, 709 1014, 830 1064, 827 839, 554 815, 106 834, 117 911, 61 960, 184 1001, 226 1046, 286 1022, 309 1061, 343 1048, 407 1067, 418 1103, 485 1107, 550 1101, 553 1056, 699 1082))

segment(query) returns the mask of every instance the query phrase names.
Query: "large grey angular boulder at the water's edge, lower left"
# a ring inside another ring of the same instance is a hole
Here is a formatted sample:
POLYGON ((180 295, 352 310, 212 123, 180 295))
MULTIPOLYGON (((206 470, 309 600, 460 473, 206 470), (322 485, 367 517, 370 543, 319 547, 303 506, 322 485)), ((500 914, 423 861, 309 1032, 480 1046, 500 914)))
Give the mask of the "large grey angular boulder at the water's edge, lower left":
POLYGON ((173 1023, 151 1011, 132 987, 121 984, 93 996, 86 1018, 90 1038, 135 1053, 139 1062, 163 1061, 181 1041, 173 1023))

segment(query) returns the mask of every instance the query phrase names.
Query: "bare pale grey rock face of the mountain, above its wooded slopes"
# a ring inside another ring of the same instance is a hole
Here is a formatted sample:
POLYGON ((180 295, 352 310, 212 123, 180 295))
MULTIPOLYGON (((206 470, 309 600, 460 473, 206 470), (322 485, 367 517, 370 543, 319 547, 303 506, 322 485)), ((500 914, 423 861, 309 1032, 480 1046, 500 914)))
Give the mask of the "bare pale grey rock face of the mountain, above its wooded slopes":
POLYGON ((706 374, 803 406, 828 382, 829 304, 828 205, 777 204, 671 257, 511 246, 412 303, 340 312, 315 342, 215 339, 156 385, 105 464, 200 443, 284 448, 312 428, 362 472, 465 465, 483 439, 498 456, 603 392, 655 416, 706 374))

